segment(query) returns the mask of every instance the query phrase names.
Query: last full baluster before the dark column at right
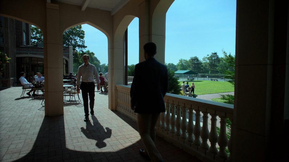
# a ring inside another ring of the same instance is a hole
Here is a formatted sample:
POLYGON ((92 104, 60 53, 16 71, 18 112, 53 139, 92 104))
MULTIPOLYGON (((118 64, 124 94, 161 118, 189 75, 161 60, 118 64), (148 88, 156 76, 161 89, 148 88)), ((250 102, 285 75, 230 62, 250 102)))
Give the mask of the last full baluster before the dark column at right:
POLYGON ((221 127, 220 127, 220 136, 218 138, 218 145, 220 146, 220 150, 218 152, 218 156, 220 156, 221 158, 228 158, 227 152, 226 152, 226 146, 228 143, 228 139, 227 139, 227 134, 226 134, 226 117, 221 117, 221 127))

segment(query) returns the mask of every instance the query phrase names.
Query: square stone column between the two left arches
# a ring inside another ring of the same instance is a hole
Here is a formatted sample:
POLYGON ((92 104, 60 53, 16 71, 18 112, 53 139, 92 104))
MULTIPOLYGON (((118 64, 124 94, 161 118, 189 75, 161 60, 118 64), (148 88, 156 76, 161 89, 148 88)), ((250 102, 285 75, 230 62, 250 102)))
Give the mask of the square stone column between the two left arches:
MULTIPOLYGON (((44 34, 45 116, 63 114, 63 45, 60 43, 59 7, 46 3, 44 34)), ((62 36, 61 36, 62 37, 62 36)))

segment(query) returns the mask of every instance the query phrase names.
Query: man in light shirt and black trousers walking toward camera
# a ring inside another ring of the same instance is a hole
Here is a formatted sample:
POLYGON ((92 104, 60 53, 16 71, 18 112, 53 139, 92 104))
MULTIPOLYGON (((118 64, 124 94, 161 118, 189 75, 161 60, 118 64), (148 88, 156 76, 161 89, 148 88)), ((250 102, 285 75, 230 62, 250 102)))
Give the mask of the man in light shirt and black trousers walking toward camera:
POLYGON ((88 95, 89 95, 90 114, 93 115, 94 114, 94 111, 93 111, 94 89, 95 89, 94 76, 95 76, 95 81, 97 83, 97 90, 99 90, 99 78, 98 78, 96 67, 93 64, 89 64, 89 56, 83 55, 82 60, 84 64, 78 67, 76 87, 77 87, 77 93, 80 93, 79 89, 81 89, 84 113, 85 113, 84 121, 87 122, 89 120, 88 95), (81 81, 81 84, 79 84, 80 81, 81 81))

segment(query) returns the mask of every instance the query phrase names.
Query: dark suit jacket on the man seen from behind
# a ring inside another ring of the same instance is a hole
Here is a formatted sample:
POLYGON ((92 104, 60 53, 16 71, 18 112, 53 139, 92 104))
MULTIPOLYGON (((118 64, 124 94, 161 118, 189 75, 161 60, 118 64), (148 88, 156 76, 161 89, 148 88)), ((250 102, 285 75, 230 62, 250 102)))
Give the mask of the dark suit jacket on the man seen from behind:
POLYGON ((154 58, 136 65, 130 89, 131 106, 135 113, 165 112, 164 95, 168 90, 168 70, 154 58))

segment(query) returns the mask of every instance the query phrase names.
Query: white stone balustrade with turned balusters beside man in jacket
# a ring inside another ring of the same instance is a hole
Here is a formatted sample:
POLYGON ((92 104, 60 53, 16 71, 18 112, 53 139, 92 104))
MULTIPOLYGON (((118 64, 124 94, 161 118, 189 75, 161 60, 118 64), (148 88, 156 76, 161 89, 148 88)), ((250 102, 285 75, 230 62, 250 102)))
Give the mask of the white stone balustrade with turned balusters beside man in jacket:
MULTIPOLYGON (((137 121, 137 114, 130 108, 130 86, 117 85, 117 90, 117 111, 137 121)), ((232 129, 233 105, 168 93, 164 101, 166 112, 161 113, 156 123, 158 136, 201 160, 231 161, 233 134, 228 141, 226 118, 232 122, 232 129), (220 127, 219 136, 217 126, 220 127), (226 147, 230 151, 229 157, 226 147)))

